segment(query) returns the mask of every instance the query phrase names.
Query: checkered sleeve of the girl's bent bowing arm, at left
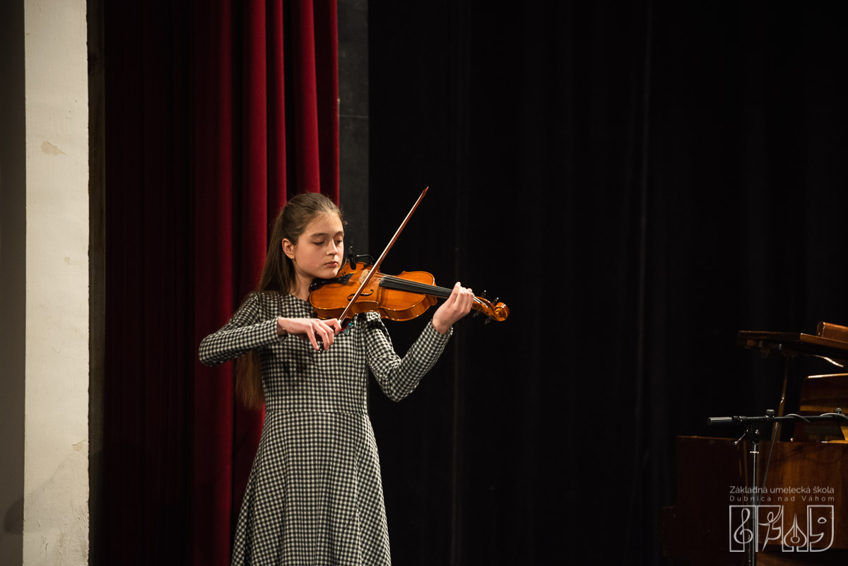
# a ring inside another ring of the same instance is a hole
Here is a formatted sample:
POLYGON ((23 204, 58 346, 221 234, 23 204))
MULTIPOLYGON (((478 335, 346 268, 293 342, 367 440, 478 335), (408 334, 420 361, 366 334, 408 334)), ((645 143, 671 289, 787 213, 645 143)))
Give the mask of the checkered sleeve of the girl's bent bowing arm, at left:
POLYGON ((200 362, 209 366, 218 365, 285 339, 285 336, 276 333, 276 317, 268 320, 261 318, 259 296, 254 293, 232 315, 230 322, 200 342, 200 362))

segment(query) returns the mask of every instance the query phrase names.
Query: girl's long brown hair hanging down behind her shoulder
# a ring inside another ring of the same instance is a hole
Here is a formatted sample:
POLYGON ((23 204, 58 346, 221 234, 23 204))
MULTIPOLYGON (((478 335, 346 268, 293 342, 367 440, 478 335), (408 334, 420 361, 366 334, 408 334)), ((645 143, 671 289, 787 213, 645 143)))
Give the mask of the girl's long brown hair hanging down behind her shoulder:
MULTIPOLYGON (((286 203, 274 220, 265 265, 262 267, 262 275, 259 276, 259 288, 253 292, 287 295, 292 291, 295 280, 294 265, 282 252, 282 241, 287 239, 297 244, 306 226, 319 214, 336 214, 344 222, 341 210, 319 192, 299 194, 286 203)), ((265 402, 257 350, 252 350, 237 360, 236 396, 245 407, 251 409, 262 408, 265 402)))

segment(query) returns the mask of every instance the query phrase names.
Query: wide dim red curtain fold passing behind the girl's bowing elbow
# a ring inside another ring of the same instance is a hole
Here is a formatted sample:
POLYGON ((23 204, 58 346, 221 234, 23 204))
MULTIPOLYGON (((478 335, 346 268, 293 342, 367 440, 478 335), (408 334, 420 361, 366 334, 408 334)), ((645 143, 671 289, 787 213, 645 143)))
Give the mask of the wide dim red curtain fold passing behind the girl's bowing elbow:
MULTIPOLYGON (((232 7, 228 0, 208 5, 196 21, 192 46, 195 76, 192 155, 194 206, 194 341, 232 314, 236 281, 237 195, 233 152, 232 7)), ((192 563, 223 564, 230 549, 234 402, 231 364, 202 368, 195 360, 192 458, 188 514, 192 518, 192 563)))

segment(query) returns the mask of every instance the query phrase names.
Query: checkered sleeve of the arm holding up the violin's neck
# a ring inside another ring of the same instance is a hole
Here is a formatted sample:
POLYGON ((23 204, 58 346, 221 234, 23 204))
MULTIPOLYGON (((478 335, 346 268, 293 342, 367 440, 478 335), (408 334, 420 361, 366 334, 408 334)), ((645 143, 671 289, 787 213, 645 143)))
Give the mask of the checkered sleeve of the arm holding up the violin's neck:
POLYGON ((440 334, 433 328, 432 321, 428 322, 409 352, 400 358, 394 352, 386 325, 378 314, 367 314, 364 324, 368 367, 382 392, 393 401, 400 401, 415 391, 418 382, 436 363, 454 333, 451 329, 448 334, 440 334))

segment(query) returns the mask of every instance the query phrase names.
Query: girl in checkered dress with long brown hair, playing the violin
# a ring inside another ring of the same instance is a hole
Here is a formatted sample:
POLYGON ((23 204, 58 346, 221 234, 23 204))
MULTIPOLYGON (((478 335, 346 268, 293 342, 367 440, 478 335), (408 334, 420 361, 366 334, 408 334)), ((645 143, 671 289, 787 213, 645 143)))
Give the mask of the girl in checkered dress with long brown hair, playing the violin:
POLYGON ((293 197, 276 219, 259 289, 200 343, 207 365, 240 358, 239 397, 265 403, 233 566, 391 563, 367 370, 394 401, 409 395, 474 295, 457 283, 401 358, 377 313, 356 315, 347 329, 315 318, 310 283, 336 276, 343 236, 329 198, 293 197))

